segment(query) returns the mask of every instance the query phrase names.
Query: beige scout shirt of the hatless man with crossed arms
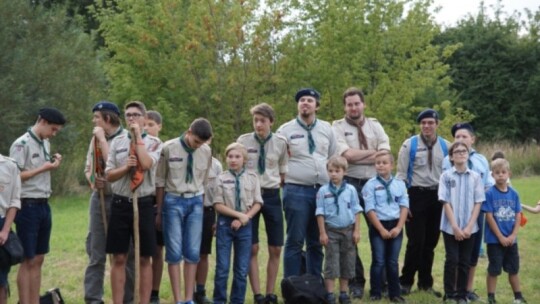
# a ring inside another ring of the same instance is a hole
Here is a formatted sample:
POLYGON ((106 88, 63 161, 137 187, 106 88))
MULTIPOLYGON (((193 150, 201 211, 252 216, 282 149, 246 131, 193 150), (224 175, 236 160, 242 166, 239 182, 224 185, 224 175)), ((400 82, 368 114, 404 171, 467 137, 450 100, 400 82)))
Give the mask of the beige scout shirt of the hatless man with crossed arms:
MULTIPOLYGON (((339 155, 342 155, 343 152, 349 148, 360 149, 360 143, 358 142, 358 128, 356 126, 350 125, 345 121, 345 118, 343 118, 335 120, 332 123, 332 128, 336 134, 339 155)), ((366 117, 365 123, 362 126, 362 131, 366 136, 368 150, 390 151, 390 140, 388 139, 388 135, 386 135, 386 132, 384 132, 383 127, 377 119, 366 117)), ((347 176, 359 179, 372 178, 376 173, 374 165, 349 164, 349 168, 347 169, 347 176)))

